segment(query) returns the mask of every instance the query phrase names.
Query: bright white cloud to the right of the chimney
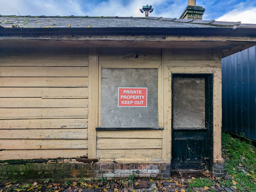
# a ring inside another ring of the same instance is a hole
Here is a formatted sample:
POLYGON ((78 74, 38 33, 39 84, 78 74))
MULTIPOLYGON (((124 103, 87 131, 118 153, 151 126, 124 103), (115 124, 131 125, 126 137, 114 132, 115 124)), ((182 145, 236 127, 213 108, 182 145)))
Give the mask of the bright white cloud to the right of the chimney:
POLYGON ((234 9, 216 20, 256 24, 256 7, 247 10, 234 9))

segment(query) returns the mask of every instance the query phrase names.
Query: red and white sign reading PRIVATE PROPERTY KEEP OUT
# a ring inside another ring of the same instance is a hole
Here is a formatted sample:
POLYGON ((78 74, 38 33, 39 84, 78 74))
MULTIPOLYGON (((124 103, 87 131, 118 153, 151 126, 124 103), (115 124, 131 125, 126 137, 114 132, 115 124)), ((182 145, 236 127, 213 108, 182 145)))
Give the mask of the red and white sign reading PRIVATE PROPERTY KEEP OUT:
POLYGON ((118 87, 118 107, 147 107, 148 88, 118 87))

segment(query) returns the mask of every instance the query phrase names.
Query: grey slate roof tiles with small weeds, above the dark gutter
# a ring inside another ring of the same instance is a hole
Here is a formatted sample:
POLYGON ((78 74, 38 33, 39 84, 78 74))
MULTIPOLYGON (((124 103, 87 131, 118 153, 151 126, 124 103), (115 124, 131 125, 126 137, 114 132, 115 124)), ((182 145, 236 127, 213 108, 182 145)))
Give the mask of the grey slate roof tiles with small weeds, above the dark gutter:
POLYGON ((256 24, 162 17, 2 16, 0 28, 256 28, 256 24))

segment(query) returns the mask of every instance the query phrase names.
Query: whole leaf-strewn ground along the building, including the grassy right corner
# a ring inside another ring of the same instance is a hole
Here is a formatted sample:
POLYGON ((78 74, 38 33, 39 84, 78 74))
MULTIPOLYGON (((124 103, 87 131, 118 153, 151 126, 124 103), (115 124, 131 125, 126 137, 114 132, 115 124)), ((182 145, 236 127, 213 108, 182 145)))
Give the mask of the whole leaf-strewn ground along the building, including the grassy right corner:
POLYGON ((214 178, 208 170, 188 174, 179 172, 168 179, 138 179, 134 175, 122 180, 52 182, 50 178, 44 182, 21 183, 0 181, 0 192, 256 192, 256 148, 222 134, 222 156, 225 162, 225 178, 214 178), (142 182, 149 184, 148 189, 136 188, 142 182))

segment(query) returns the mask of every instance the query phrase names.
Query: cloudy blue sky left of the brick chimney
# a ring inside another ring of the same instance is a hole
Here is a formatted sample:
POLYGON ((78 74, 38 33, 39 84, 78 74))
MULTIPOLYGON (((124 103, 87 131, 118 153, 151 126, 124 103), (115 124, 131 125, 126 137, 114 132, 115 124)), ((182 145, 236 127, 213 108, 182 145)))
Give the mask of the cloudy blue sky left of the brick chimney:
POLYGON ((178 18, 187 6, 187 0, 104 0, 98 4, 93 0, 0 0, 0 14, 143 17, 139 9, 148 3, 154 8, 151 16, 169 18, 178 18))

